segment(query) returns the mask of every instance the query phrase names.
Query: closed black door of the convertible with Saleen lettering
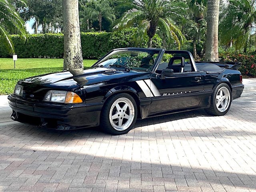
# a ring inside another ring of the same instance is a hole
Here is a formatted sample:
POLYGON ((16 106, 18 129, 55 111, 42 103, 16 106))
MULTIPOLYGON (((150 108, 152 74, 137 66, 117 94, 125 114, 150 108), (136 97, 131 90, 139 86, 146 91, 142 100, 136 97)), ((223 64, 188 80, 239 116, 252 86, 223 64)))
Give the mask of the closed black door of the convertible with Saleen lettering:
POLYGON ((160 112, 196 108, 200 106, 202 99, 205 99, 200 72, 174 73, 165 79, 152 74, 150 89, 152 104, 149 116, 160 112))

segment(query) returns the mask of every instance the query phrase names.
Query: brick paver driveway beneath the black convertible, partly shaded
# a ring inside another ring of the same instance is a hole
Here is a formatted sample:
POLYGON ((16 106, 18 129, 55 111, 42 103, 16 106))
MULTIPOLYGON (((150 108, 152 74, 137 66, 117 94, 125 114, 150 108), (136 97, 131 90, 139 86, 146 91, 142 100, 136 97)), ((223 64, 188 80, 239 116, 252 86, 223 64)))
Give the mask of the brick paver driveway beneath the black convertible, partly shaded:
POLYGON ((255 118, 251 95, 226 116, 150 118, 122 136, 0 126, 0 190, 256 191, 255 118))

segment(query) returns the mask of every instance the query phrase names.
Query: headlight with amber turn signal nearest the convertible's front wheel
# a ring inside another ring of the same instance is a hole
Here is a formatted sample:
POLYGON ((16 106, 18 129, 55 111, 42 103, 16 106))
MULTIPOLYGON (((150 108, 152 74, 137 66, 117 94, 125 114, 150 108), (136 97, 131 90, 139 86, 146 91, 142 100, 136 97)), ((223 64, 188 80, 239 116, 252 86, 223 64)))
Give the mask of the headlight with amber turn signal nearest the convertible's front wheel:
POLYGON ((57 103, 82 103, 82 99, 71 91, 57 91, 51 90, 44 96, 44 101, 57 103))

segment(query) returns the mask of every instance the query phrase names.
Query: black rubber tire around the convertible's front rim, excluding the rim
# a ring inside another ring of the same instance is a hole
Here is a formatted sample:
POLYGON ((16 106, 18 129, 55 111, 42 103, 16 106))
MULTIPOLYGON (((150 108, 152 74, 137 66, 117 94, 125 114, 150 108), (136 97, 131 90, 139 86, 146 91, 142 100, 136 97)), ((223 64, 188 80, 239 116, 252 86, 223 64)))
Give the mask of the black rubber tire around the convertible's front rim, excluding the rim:
POLYGON ((127 94, 127 93, 120 93, 120 94, 116 94, 114 96, 111 96, 110 98, 108 98, 108 100, 105 102, 102 111, 101 111, 101 118, 100 118, 100 128, 102 129, 103 132, 112 134, 112 135, 122 135, 122 134, 126 134, 128 133, 132 128, 134 128, 134 124, 137 120, 137 104, 134 100, 134 98, 127 94), (120 98, 126 98, 128 100, 130 100, 130 102, 132 103, 133 107, 134 107, 134 119, 131 120, 130 122, 132 122, 130 124, 130 126, 128 126, 128 128, 126 128, 125 130, 116 130, 112 124, 110 123, 110 110, 112 105, 114 104, 114 102, 116 102, 118 99, 120 98))

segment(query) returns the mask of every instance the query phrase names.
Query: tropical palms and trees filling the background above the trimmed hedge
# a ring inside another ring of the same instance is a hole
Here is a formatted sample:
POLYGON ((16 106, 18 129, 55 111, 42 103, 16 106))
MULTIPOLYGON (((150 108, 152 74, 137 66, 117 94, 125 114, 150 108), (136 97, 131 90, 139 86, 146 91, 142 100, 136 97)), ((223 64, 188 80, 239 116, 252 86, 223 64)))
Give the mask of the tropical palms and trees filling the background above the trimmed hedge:
MULTIPOLYGON (((116 31, 117 38, 125 39, 122 29, 128 28, 133 32, 128 35, 127 46, 151 46, 152 41, 161 48, 189 50, 198 60, 209 47, 206 46, 209 0, 78 2, 81 32, 116 31), (152 39, 154 34, 158 36, 152 39)), ((256 54, 256 0, 220 2, 219 52, 256 54)), ((31 24, 31 20, 34 34, 62 33, 62 10, 62 0, 30 0, 26 4, 23 0, 0 0, 1 43, 14 52, 8 34, 19 34, 26 39, 24 23, 31 24)))

